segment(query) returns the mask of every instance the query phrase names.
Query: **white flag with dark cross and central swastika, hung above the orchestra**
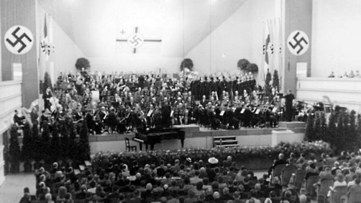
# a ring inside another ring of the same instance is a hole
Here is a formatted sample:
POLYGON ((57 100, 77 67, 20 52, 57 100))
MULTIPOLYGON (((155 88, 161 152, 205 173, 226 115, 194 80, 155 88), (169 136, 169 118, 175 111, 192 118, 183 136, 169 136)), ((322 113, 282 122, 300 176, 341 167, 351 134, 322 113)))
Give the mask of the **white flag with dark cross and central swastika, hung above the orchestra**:
POLYGON ((120 27, 115 39, 116 54, 160 54, 163 28, 120 27))

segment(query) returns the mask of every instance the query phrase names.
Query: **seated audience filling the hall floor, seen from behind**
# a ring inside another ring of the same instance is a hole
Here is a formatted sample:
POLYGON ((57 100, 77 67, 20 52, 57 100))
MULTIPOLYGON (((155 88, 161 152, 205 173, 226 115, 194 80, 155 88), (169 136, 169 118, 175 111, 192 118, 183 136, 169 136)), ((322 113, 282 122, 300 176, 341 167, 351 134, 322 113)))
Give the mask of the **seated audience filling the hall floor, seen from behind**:
MULTIPOLYGON (((287 162, 283 154, 279 154, 278 158, 275 163, 287 162)), ((291 154, 289 161, 293 163, 295 158, 296 156, 291 154)), ((231 158, 218 164, 179 161, 183 159, 178 157, 173 164, 160 161, 159 165, 139 165, 135 160, 124 160, 123 163, 108 163, 106 168, 94 168, 94 172, 85 168, 76 174, 66 163, 54 163, 48 171, 43 167, 37 170, 36 195, 31 195, 29 188, 24 188, 20 203, 36 199, 50 203, 72 203, 78 200, 86 203, 308 203, 314 198, 306 185, 283 184, 282 176, 272 177, 267 173, 256 177, 253 171, 245 166, 237 168, 237 163, 231 158)), ((304 155, 300 156, 299 160, 304 160, 303 164, 295 164, 293 173, 304 171, 304 179, 318 176, 316 188, 325 181, 334 181, 329 195, 339 186, 348 187, 351 193, 356 191, 355 187, 361 187, 360 174, 357 173, 361 170, 361 159, 354 153, 342 153, 339 161, 334 163, 327 155, 322 155, 320 161, 307 160, 304 155)), ((296 163, 299 163, 299 160, 296 163)), ((311 190, 315 188, 312 187, 311 190)))

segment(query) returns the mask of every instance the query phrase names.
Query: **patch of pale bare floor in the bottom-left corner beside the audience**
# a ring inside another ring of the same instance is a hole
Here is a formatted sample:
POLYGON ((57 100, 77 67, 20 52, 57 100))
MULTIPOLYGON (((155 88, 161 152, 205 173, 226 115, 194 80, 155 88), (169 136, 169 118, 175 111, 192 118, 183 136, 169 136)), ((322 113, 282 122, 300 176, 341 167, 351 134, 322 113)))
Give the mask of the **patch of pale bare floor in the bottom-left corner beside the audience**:
POLYGON ((30 192, 35 194, 35 176, 33 172, 6 175, 5 182, 0 187, 0 202, 19 202, 24 187, 29 187, 30 192))

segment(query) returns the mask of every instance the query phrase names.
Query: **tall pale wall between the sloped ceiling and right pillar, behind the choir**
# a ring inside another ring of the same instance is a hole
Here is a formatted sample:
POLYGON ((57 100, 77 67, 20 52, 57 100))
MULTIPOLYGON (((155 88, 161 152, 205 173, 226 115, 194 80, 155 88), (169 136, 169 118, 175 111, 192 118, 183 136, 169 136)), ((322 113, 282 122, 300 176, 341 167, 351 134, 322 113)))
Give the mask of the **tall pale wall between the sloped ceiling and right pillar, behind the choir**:
POLYGON ((244 3, 187 57, 201 73, 238 71, 239 59, 248 59, 261 69, 263 21, 274 19, 277 0, 251 0, 244 3))

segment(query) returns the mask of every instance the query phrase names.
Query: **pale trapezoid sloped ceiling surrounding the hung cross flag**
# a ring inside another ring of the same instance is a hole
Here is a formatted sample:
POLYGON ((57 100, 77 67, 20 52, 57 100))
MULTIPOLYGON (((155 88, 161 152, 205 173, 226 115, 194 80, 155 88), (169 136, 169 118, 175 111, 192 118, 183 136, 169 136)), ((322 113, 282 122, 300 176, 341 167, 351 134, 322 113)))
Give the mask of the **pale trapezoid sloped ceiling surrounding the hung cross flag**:
POLYGON ((183 57, 247 0, 38 0, 87 57, 116 55, 121 27, 163 30, 161 55, 183 57))

